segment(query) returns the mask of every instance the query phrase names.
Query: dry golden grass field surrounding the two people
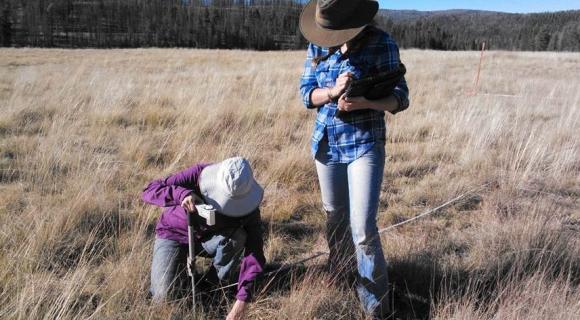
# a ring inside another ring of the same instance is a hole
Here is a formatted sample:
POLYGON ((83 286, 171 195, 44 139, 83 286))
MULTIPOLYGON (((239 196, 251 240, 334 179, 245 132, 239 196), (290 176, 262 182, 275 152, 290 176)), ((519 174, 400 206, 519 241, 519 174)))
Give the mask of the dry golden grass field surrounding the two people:
MULTIPOLYGON (((198 161, 251 160, 272 266, 325 250, 304 56, 0 50, 0 318, 192 319, 188 299, 147 300, 160 209, 140 192, 198 161)), ((382 236, 397 317, 578 319, 580 55, 489 52, 477 96, 478 53, 402 58, 379 226, 477 192, 382 236)), ((249 318, 362 319, 324 262, 260 284, 249 318)))

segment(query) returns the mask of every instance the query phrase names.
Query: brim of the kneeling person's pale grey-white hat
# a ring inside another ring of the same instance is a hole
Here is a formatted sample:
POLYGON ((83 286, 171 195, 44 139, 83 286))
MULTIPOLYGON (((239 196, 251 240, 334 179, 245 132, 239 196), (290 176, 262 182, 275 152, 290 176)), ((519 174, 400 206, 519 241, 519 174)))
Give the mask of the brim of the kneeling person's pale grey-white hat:
POLYGON ((228 217, 243 217, 258 209, 264 190, 254 180, 252 187, 243 197, 233 198, 219 188, 217 183, 219 163, 203 169, 199 177, 199 189, 205 203, 211 205, 218 213, 228 217))

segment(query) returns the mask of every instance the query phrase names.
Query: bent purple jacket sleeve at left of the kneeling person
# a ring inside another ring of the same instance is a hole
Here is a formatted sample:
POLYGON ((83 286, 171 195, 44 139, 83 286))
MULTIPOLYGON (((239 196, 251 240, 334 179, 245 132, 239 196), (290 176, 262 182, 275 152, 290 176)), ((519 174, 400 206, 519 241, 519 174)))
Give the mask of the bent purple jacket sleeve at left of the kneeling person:
POLYGON ((195 190, 203 167, 194 165, 165 179, 151 181, 143 190, 143 201, 160 207, 181 205, 183 199, 195 190))

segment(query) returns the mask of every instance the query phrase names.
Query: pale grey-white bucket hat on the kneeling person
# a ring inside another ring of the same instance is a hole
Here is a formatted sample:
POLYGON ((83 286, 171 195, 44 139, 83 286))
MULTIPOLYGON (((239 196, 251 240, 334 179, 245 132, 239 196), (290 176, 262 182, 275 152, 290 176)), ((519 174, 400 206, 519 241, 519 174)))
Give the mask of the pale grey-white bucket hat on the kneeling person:
POLYGON ((254 179, 248 160, 226 159, 201 172, 199 189, 205 203, 228 217, 243 217, 256 210, 264 190, 254 179))

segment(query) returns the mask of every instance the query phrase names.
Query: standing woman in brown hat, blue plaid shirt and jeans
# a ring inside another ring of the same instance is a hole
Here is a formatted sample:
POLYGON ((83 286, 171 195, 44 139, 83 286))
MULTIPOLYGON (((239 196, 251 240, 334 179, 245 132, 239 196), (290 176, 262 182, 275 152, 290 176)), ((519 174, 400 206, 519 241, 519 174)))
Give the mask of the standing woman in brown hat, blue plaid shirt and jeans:
POLYGON ((378 3, 370 0, 306 5, 300 30, 310 45, 300 92, 306 107, 317 110, 311 151, 327 213, 329 266, 340 271, 356 253, 359 298, 368 314, 381 317, 388 312, 386 262, 376 223, 385 164, 384 116, 409 106, 408 88, 401 78, 392 94, 379 100, 344 96, 353 79, 400 64, 395 41, 371 25, 377 11, 378 3))

